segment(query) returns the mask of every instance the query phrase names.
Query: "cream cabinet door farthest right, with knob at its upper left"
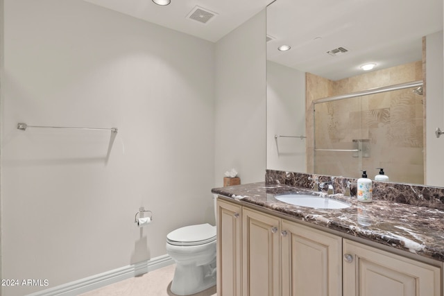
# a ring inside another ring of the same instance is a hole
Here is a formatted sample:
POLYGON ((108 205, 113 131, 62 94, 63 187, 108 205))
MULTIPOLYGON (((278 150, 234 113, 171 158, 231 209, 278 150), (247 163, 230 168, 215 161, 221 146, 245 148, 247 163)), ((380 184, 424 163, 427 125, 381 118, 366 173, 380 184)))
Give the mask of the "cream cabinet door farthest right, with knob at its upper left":
POLYGON ((343 241, 344 296, 440 296, 441 268, 343 241))

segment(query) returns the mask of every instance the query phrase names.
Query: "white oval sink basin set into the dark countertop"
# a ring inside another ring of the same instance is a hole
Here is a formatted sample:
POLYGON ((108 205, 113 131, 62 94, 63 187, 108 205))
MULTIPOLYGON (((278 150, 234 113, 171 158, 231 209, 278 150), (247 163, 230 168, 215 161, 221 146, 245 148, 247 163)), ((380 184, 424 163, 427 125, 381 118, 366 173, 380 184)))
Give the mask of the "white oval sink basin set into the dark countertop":
POLYGON ((286 202, 287 204, 311 207, 314 209, 345 209, 351 205, 347 202, 342 202, 341 200, 307 194, 282 194, 276 195, 275 199, 280 200, 281 202, 286 202))

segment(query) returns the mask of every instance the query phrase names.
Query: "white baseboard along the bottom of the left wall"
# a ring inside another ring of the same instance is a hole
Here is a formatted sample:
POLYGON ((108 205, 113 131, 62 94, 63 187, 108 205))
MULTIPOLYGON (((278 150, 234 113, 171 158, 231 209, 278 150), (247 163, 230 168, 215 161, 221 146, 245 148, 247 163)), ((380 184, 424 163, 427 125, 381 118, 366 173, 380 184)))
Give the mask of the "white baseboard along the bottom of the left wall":
POLYGON ((173 259, 171 259, 171 257, 168 255, 158 256, 147 261, 123 266, 122 268, 103 272, 99 275, 85 277, 84 279, 71 281, 71 283, 28 294, 27 296, 76 296, 81 293, 86 293, 90 290, 94 290, 96 288, 101 288, 103 286, 117 283, 117 281, 121 281, 123 279, 129 279, 131 277, 136 277, 137 275, 143 275, 146 272, 150 272, 156 270, 157 268, 162 268, 173 263, 173 259))

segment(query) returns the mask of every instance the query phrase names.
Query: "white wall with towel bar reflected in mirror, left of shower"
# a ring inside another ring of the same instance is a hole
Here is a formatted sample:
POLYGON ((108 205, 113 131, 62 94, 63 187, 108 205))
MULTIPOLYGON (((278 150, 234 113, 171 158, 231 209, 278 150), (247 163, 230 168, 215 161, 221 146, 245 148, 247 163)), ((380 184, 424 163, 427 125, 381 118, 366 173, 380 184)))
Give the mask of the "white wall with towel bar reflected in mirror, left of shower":
POLYGON ((266 63, 266 168, 307 170, 305 136, 305 72, 275 62, 266 63))

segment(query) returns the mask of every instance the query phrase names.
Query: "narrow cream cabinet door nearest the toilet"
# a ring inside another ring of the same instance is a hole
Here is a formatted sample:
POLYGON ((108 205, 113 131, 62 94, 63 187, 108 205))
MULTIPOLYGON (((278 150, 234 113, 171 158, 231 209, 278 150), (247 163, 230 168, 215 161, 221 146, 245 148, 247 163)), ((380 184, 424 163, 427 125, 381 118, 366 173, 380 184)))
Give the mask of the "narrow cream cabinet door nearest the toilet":
POLYGON ((242 207, 217 200, 217 295, 241 296, 242 207))

